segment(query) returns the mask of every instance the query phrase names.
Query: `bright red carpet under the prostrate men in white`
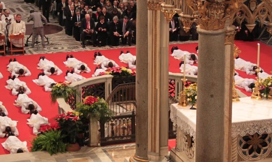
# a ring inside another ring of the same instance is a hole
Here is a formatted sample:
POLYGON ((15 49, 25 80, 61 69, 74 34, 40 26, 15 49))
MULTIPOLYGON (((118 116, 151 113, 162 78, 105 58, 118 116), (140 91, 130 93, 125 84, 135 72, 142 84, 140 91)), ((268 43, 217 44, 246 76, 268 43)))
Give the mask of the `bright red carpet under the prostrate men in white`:
MULTIPOLYGON (((242 42, 237 41, 236 45, 240 47, 242 53, 240 55, 241 58, 256 62, 257 60, 257 42, 242 42)), ((170 45, 169 51, 173 45, 170 45)), ((180 49, 189 51, 189 52, 196 52, 195 47, 197 43, 193 44, 180 44, 174 45, 178 46, 180 49)), ((136 48, 125 48, 124 51, 130 50, 132 54, 136 54, 136 48)), ((113 59, 119 66, 127 66, 124 63, 121 63, 118 59, 120 55, 121 49, 111 49, 111 50, 101 50, 101 53, 108 57, 109 59, 113 59)), ((73 56, 83 62, 85 62, 90 69, 92 70, 91 73, 82 74, 82 76, 89 78, 94 73, 94 69, 96 65, 93 64, 94 62, 94 52, 95 51, 82 51, 82 52, 71 52, 71 53, 54 53, 54 54, 36 54, 36 55, 25 55, 25 56, 6 56, 0 57, 0 72, 3 74, 4 78, 0 79, 0 101, 3 102, 3 105, 6 106, 7 110, 9 111, 9 117, 12 120, 19 121, 17 124, 17 128, 19 130, 19 139, 28 142, 28 146, 30 145, 30 141, 32 139, 33 133, 32 128, 26 124, 26 119, 30 117, 30 115, 25 115, 21 113, 21 108, 18 108, 13 105, 16 96, 11 95, 11 91, 7 90, 4 86, 6 85, 6 80, 10 75, 9 72, 6 71, 6 65, 9 63, 10 58, 16 58, 17 61, 23 65, 25 65, 32 73, 29 77, 20 77, 19 79, 25 81, 28 87, 31 90, 31 94, 29 95, 34 101, 36 101, 42 108, 41 115, 48 118, 50 123, 54 123, 54 118, 58 113, 58 107, 56 104, 51 104, 50 101, 50 92, 45 92, 43 87, 36 85, 32 82, 33 79, 37 78, 37 75, 41 72, 41 70, 37 69, 37 63, 39 62, 39 57, 45 56, 46 59, 53 61, 64 73, 62 75, 54 75, 50 76, 56 82, 64 81, 64 76, 68 67, 65 67, 63 61, 66 59, 66 54, 73 54, 73 56)), ((265 44, 261 43, 261 63, 260 66, 266 71, 269 72, 272 70, 271 62, 272 62, 272 55, 271 55, 271 47, 266 46, 265 44), (270 67, 269 67, 270 65, 270 67)), ((169 71, 170 72, 180 72, 179 70, 179 60, 174 59, 173 57, 169 57, 169 71)), ((253 78, 254 76, 246 75, 245 72, 239 72, 242 77, 253 78)), ((245 92, 243 90, 243 92, 245 92)), ((250 94, 248 94, 250 95, 250 94)), ((6 138, 0 138, 0 143, 4 142, 6 138)), ((174 145, 173 145, 174 146, 174 145)), ((170 144, 169 144, 170 147, 170 144)), ((172 147, 172 144, 171 144, 172 147)), ((5 151, 4 148, 0 147, 0 154, 9 153, 5 151)))

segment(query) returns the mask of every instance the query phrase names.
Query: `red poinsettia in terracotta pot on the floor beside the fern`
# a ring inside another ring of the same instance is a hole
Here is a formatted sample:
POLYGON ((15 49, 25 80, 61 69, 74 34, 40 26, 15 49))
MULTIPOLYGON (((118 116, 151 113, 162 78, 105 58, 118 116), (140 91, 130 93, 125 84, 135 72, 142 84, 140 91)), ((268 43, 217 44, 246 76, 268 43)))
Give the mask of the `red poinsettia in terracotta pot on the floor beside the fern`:
POLYGON ((79 144, 76 142, 76 138, 79 134, 79 127, 82 122, 79 118, 79 114, 76 112, 67 112, 67 114, 60 114, 56 121, 59 123, 61 133, 66 135, 64 142, 68 142, 68 151, 79 151, 79 144))

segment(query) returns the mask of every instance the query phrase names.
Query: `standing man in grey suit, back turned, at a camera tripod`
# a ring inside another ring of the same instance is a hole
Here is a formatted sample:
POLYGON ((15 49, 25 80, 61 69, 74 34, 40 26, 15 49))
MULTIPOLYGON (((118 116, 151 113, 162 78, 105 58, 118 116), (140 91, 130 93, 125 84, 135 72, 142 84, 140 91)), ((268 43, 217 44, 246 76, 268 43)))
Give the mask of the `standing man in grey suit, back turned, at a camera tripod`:
POLYGON ((36 36, 39 34, 41 36, 41 42, 42 42, 42 46, 45 48, 45 43, 44 43, 44 27, 43 27, 43 22, 42 20, 45 22, 45 25, 47 26, 47 20, 46 18, 41 14, 41 12, 36 12, 34 10, 30 11, 30 16, 27 19, 27 22, 30 22, 31 20, 34 21, 33 24, 33 31, 32 31, 32 44, 31 47, 34 47, 34 43, 35 43, 35 38, 36 36))

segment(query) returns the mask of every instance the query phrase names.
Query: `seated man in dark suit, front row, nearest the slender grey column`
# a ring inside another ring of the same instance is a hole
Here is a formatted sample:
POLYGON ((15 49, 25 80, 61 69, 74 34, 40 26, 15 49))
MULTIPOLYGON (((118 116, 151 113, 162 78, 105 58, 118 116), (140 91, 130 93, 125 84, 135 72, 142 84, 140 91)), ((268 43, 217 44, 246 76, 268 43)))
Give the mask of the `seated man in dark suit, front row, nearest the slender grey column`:
POLYGON ((127 16, 124 16, 124 19, 119 20, 119 23, 122 26, 122 35, 123 35, 123 37, 121 37, 122 44, 126 44, 127 39, 129 39, 128 44, 129 46, 131 46, 131 38, 132 38, 131 22, 128 20, 127 16))

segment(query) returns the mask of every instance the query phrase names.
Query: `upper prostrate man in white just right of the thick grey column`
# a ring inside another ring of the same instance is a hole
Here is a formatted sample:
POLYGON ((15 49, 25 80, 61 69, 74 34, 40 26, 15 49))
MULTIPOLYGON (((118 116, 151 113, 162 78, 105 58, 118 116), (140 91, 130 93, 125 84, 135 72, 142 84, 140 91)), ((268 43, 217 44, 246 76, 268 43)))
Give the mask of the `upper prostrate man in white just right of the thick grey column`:
POLYGON ((246 72, 247 75, 254 75, 256 73, 255 70, 257 69, 257 64, 253 64, 249 61, 236 57, 234 68, 246 72))

